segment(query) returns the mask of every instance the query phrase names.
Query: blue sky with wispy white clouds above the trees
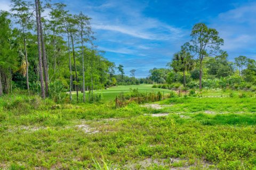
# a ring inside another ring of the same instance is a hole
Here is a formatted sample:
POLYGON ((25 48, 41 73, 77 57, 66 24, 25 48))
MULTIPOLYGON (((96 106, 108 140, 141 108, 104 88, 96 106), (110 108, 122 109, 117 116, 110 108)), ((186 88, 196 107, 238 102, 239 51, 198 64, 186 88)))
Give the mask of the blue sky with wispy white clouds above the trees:
MULTIPOLYGON (((256 60, 256 0, 52 0, 67 4, 70 13, 92 18, 95 45, 105 57, 124 66, 125 75, 149 75, 166 67, 180 46, 190 41, 193 25, 205 23, 224 39, 228 60, 240 55, 256 60)), ((10 10, 0 0, 0 10, 10 10)))

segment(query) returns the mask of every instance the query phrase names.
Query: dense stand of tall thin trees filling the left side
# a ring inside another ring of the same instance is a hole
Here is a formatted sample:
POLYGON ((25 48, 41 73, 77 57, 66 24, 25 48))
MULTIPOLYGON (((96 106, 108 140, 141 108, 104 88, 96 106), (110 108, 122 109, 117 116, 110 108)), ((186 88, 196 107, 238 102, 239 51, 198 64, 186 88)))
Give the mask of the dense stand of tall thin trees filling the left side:
POLYGON ((39 0, 12 0, 11 11, 0 11, 0 96, 14 88, 43 98, 69 89, 70 100, 71 91, 77 100, 82 91, 85 101, 85 90, 116 84, 115 64, 94 45, 89 16, 39 0))

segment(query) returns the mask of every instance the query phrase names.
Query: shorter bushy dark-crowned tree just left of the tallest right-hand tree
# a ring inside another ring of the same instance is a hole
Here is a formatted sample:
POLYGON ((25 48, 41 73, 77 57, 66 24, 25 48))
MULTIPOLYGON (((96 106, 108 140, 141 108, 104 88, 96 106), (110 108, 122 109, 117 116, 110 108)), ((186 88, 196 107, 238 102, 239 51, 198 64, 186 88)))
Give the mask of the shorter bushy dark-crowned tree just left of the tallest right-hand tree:
POLYGON ((193 69, 194 60, 193 56, 188 52, 189 43, 181 46, 181 51, 175 53, 173 56, 173 60, 171 66, 175 72, 182 71, 183 72, 183 86, 186 87, 186 71, 190 71, 193 69))

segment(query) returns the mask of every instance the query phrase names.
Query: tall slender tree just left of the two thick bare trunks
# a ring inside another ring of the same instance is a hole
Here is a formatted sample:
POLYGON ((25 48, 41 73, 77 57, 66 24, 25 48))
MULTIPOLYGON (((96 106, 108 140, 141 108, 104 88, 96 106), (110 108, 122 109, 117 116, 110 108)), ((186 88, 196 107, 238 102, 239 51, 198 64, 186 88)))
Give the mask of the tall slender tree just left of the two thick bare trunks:
POLYGON ((29 5, 26 1, 20 1, 20 0, 12 0, 13 8, 11 11, 14 11, 14 16, 17 16, 19 18, 18 22, 21 25, 22 28, 22 37, 23 37, 23 46, 25 51, 25 60, 26 60, 26 83, 27 83, 27 90, 28 94, 29 92, 29 77, 28 77, 28 52, 27 52, 27 36, 26 31, 27 29, 31 29, 30 21, 30 11, 29 11, 29 5))

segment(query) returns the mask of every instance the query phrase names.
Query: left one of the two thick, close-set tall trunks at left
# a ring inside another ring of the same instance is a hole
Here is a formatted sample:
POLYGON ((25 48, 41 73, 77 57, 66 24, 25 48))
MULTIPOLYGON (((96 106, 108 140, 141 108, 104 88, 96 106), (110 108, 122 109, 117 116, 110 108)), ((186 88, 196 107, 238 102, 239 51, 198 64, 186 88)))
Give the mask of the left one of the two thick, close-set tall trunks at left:
POLYGON ((44 91, 44 77, 43 77, 43 63, 42 63, 42 50, 41 50, 41 32, 40 32, 40 22, 39 22, 39 14, 38 14, 38 4, 39 0, 35 0, 36 5, 36 27, 37 27, 37 45, 38 45, 38 66, 39 66, 39 79, 41 82, 41 95, 42 98, 45 99, 45 91, 44 91))

